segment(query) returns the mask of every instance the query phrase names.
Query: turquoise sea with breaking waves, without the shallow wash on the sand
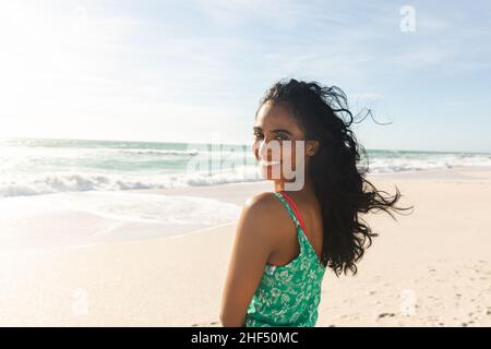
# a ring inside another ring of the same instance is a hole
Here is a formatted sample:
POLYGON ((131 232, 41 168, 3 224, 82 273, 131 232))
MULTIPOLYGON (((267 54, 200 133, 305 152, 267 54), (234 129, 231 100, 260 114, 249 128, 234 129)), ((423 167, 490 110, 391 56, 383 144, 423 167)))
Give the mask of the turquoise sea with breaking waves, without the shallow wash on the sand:
MULTIPOLYGON (((371 173, 491 166, 482 153, 368 149, 371 173)), ((262 180, 247 144, 0 140, 0 197, 262 180)))

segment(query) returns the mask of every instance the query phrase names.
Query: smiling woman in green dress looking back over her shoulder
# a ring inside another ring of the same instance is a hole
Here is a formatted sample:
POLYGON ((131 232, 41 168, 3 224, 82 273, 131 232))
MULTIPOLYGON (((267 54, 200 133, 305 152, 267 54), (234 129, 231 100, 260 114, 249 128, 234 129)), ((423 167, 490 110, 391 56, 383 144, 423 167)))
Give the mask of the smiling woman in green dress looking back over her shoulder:
POLYGON ((346 95, 335 86, 278 82, 261 100, 253 152, 274 192, 250 197, 239 218, 221 300, 224 326, 314 326, 325 270, 355 274, 376 236, 359 215, 407 209, 395 206, 397 188, 384 197, 364 179, 368 169, 357 167, 364 149, 349 129, 352 121, 346 95), (301 146, 284 146, 290 142, 301 146), (275 157, 270 143, 279 145, 275 157), (285 164, 301 174, 300 188, 285 164))

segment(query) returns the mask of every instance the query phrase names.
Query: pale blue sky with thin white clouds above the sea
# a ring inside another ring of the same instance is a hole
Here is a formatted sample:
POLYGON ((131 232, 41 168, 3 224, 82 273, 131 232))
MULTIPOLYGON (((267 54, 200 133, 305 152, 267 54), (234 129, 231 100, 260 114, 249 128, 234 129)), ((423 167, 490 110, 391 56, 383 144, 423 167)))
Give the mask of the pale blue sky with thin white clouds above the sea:
POLYGON ((0 0, 0 137, 244 144, 280 79, 369 149, 491 152, 489 1, 0 0))

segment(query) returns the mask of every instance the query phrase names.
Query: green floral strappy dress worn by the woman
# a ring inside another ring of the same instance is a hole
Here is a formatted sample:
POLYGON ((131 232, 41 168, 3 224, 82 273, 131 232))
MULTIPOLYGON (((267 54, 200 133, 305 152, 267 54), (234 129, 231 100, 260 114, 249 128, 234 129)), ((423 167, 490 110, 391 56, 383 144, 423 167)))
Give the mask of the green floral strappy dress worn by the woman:
POLYGON ((326 268, 319 262, 315 250, 284 194, 274 194, 294 219, 300 253, 283 266, 266 264, 248 306, 246 327, 313 327, 318 320, 321 285, 326 268))

